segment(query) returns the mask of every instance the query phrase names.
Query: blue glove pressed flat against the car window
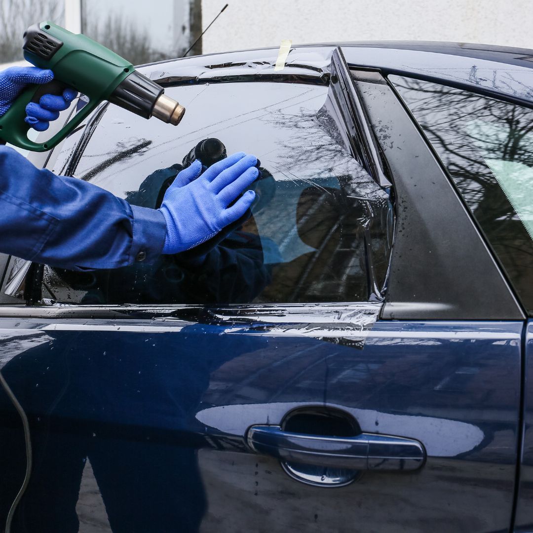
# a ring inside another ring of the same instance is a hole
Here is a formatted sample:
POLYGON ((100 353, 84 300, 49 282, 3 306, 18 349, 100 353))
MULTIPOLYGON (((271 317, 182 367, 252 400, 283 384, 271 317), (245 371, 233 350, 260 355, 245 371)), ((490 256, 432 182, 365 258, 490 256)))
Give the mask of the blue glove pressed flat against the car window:
POLYGON ((201 176, 198 160, 182 170, 159 208, 167 223, 163 253, 193 248, 240 219, 252 205, 255 192, 246 191, 235 204, 228 205, 259 175, 256 163, 254 156, 239 152, 210 166, 201 176))

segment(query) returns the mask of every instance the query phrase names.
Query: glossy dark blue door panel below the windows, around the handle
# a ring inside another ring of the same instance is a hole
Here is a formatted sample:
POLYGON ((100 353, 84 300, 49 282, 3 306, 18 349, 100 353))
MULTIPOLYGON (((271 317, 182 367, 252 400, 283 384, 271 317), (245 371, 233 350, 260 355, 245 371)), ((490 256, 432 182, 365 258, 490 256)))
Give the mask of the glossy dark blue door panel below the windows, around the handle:
MULTIPOLYGON (((376 316, 365 305, 344 314, 314 305, 219 311, 205 323, 2 319, 2 373, 34 446, 14 531, 78 531, 95 497, 78 499, 87 459, 103 502, 94 512, 113 531, 506 530, 522 323, 362 325, 349 318, 358 310, 376 316), (245 435, 303 407, 417 440, 427 461, 338 488, 296 481, 245 435)), ((2 398, 2 442, 14 443, 10 411, 2 398)), ((23 449, 0 461, 20 472, 23 449)))

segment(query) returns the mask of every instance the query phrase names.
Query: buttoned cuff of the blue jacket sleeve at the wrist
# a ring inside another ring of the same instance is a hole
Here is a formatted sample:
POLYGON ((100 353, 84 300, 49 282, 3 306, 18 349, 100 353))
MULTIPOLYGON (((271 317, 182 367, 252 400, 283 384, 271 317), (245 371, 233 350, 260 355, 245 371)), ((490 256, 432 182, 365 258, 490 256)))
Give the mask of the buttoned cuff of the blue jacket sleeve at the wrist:
POLYGON ((133 241, 130 262, 154 262, 163 251, 166 235, 165 216, 158 209, 132 205, 133 241))

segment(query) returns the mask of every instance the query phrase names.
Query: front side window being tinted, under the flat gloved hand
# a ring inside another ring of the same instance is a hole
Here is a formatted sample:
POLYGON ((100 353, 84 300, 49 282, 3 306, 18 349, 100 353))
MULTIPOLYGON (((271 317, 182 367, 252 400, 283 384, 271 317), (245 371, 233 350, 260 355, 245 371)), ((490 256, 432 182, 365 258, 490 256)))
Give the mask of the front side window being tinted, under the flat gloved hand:
POLYGON ((47 267, 44 297, 87 304, 381 297, 391 253, 390 191, 345 149, 327 86, 223 83, 169 87, 166 94, 187 109, 179 126, 109 106, 73 174, 131 204, 158 207, 189 152, 211 139, 221 152, 260 159, 251 216, 154 264, 82 273, 47 267))

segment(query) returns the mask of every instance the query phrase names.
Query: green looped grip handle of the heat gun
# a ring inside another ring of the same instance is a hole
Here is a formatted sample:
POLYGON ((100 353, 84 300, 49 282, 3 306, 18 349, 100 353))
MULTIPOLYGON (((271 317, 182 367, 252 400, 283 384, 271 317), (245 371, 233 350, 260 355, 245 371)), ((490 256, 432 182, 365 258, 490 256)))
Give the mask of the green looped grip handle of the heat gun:
MULTIPOLYGON (((67 85, 64 85, 64 87, 67 87, 67 85)), ((35 142, 28 139, 28 130, 31 126, 26 124, 24 119, 26 117, 26 106, 29 102, 38 101, 42 94, 46 94, 46 92, 43 93, 42 91, 43 86, 31 84, 20 93, 13 105, 0 117, 0 139, 19 148, 33 152, 45 152, 66 138, 100 103, 99 100, 89 100, 51 139, 44 142, 35 142)))

